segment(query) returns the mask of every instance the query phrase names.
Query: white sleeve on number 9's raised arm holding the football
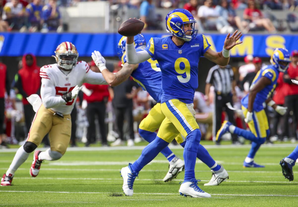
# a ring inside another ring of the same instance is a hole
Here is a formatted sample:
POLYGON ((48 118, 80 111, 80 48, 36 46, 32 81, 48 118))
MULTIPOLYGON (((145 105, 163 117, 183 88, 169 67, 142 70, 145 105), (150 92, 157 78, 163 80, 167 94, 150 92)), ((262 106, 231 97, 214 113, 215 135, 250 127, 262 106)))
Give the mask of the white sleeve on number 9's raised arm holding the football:
POLYGON ((146 50, 136 52, 134 43, 126 44, 125 51, 126 51, 126 62, 128 64, 137 64, 137 63, 145 62, 146 60, 151 58, 151 55, 146 50))

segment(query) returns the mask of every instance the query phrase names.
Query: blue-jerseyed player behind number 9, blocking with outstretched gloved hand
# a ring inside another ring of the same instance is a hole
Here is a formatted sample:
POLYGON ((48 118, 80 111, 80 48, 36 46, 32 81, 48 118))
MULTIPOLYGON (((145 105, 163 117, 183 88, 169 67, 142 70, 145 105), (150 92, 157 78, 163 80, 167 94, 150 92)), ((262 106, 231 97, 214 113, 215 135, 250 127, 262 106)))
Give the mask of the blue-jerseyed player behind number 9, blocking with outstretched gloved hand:
MULTIPOLYGON (((160 104, 162 98, 162 73, 158 62, 152 58, 139 64, 128 64, 126 62, 125 43, 126 37, 122 37, 118 43, 118 56, 122 61, 123 67, 117 73, 111 73, 106 70, 105 59, 101 56, 99 51, 94 51, 92 58, 100 68, 103 77, 111 86, 120 84, 131 75, 142 89, 148 91, 150 96, 156 100, 157 104, 150 110, 148 116, 146 116, 139 125, 139 134, 141 137, 148 142, 152 142, 156 138, 155 131, 160 127, 165 118, 161 111, 160 104)), ((137 51, 143 50, 146 47, 144 36, 141 34, 135 36, 134 45, 137 51)), ((185 146, 186 140, 181 134, 175 139, 182 147, 185 146)), ((205 185, 219 185, 229 177, 222 165, 218 165, 201 144, 199 145, 198 152, 200 152, 197 154, 198 159, 208 165, 212 171, 212 178, 209 183, 205 183, 205 185)), ((167 182, 175 178, 177 174, 184 169, 184 162, 176 157, 168 146, 165 147, 161 153, 169 161, 169 171, 163 179, 164 182, 167 182)), ((123 190, 127 193, 125 188, 123 190)))

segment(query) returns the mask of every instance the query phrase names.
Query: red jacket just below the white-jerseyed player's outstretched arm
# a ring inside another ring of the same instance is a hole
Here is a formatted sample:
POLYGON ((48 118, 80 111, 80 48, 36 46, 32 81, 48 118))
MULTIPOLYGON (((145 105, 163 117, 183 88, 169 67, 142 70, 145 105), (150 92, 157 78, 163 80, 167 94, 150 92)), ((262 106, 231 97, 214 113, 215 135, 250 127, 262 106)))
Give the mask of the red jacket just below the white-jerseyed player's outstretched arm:
POLYGON ((90 96, 87 96, 84 93, 83 99, 85 99, 87 103, 103 101, 105 97, 110 95, 108 91, 108 85, 92 85, 89 83, 84 83, 84 85, 86 88, 92 91, 90 96))

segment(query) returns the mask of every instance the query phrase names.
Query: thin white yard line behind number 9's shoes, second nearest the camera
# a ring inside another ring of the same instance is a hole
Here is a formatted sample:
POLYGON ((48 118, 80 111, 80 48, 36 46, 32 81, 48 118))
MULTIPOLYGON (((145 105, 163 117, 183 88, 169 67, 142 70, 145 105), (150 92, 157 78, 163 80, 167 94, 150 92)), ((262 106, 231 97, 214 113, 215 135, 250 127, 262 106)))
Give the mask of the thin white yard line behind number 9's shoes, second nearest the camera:
MULTIPOLYGON (((74 177, 15 177, 14 179, 37 179, 37 180, 123 180, 122 178, 74 178, 74 177)), ((136 179, 139 181, 162 181, 162 179, 136 179)), ((175 179, 176 181, 184 181, 180 179, 175 179)), ((209 182, 209 180, 201 180, 202 182, 209 182)), ((248 181, 248 180, 227 180, 228 183, 286 183, 286 184, 297 184, 298 182, 289 181, 248 181)))

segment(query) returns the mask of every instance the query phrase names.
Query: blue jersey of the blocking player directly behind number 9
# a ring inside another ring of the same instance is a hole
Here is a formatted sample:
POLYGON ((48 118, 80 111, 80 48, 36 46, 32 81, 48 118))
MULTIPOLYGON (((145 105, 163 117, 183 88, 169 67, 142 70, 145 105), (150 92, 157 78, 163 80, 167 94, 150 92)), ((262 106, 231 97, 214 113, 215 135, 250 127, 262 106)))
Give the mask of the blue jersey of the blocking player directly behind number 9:
MULTIPOLYGON (((140 49, 136 51, 140 51, 140 49)), ((121 60, 122 64, 126 62, 125 52, 121 60)), ((162 98, 162 73, 156 60, 151 58, 139 63, 138 68, 131 73, 131 76, 144 91, 147 91, 156 102, 160 103, 162 98)))

